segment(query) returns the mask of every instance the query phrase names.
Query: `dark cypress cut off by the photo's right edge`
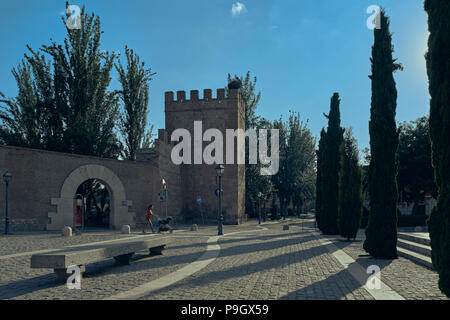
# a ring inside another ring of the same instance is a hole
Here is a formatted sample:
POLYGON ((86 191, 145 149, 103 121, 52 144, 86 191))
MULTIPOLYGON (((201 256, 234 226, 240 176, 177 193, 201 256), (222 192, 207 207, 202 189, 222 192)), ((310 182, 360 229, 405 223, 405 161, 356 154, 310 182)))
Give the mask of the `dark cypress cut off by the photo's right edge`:
POLYGON ((426 55, 430 107, 430 137, 438 202, 428 221, 433 266, 439 288, 450 297, 450 2, 426 0, 428 53, 426 55))

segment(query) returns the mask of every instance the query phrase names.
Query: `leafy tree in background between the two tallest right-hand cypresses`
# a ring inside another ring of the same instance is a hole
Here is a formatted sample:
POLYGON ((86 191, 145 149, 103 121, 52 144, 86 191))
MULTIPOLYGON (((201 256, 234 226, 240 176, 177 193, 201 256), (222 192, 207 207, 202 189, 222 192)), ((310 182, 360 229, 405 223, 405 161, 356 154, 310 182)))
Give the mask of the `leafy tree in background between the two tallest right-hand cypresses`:
POLYGON ((424 199, 426 192, 437 194, 427 117, 400 124, 398 160, 397 183, 401 200, 418 202, 424 199))

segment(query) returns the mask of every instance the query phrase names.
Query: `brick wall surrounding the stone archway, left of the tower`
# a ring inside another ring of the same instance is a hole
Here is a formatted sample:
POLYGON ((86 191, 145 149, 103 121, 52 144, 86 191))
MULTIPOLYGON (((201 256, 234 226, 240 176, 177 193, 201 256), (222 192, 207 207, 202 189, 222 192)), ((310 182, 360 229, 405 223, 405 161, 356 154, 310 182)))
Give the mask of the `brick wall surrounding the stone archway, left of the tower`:
MULTIPOLYGON (((165 155, 167 157, 167 155, 165 155)), ((141 221, 148 204, 157 204, 161 176, 168 176, 174 199, 180 192, 177 168, 170 168, 131 161, 110 160, 27 148, 0 146, 0 173, 12 173, 9 184, 9 217, 11 231, 45 230, 49 223, 49 212, 56 206, 51 199, 60 197, 61 187, 71 172, 84 165, 100 165, 117 175, 126 190, 131 205, 129 212, 136 213, 141 221), (172 171, 174 170, 174 171, 172 171), (173 180, 173 181, 171 181, 173 180)), ((181 203, 169 204, 170 214, 181 212, 181 203)), ((4 228, 5 184, 0 183, 0 221, 4 228)), ((116 228, 120 226, 115 226, 116 228)), ((4 230, 4 229, 2 229, 4 230)))

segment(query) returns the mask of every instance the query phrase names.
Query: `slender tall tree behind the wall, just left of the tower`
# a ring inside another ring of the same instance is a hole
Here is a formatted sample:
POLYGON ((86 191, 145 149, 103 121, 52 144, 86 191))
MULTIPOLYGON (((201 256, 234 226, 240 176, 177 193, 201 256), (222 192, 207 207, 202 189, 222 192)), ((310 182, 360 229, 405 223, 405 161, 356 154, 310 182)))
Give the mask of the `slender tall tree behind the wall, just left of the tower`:
POLYGON ((139 56, 125 46, 126 69, 120 60, 115 65, 119 73, 122 90, 118 94, 123 103, 120 116, 120 132, 125 140, 124 158, 136 160, 136 151, 148 147, 152 136, 152 126, 147 129, 149 82, 156 73, 145 68, 139 56))

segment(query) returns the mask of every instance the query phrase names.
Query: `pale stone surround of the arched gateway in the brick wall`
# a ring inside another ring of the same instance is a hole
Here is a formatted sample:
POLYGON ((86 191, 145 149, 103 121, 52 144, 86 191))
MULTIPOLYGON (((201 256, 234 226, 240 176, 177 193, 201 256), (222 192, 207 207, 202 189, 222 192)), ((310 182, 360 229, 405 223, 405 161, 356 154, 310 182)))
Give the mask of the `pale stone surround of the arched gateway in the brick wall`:
POLYGON ((125 188, 119 177, 110 169, 101 165, 84 165, 73 170, 64 180, 59 198, 51 198, 56 212, 49 212, 47 230, 60 230, 73 225, 74 196, 77 188, 86 180, 98 179, 105 183, 110 192, 110 226, 119 229, 122 225, 134 225, 135 213, 128 212, 131 200, 126 200, 125 188))

